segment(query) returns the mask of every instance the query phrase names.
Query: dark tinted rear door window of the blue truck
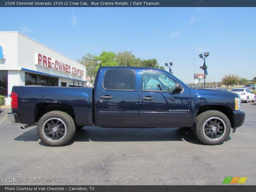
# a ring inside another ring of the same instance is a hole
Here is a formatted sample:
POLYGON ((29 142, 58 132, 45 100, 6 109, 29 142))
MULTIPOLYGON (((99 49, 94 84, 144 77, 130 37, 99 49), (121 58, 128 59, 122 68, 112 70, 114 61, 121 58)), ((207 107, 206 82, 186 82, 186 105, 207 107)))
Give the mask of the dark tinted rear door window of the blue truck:
POLYGON ((125 69, 107 70, 103 79, 103 88, 112 90, 134 90, 135 71, 125 69))

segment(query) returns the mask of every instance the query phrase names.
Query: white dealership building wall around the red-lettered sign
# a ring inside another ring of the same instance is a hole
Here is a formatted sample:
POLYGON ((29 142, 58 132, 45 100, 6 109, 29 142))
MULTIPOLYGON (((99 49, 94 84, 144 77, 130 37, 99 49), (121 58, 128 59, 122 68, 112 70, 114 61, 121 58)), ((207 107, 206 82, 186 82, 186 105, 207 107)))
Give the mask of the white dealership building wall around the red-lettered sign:
MULTIPOLYGON (((0 32, 0 45, 3 47, 4 60, 0 60, 0 70, 8 71, 8 94, 12 91, 14 85, 25 85, 25 71, 40 72, 43 75, 52 75, 59 78, 59 86, 61 82, 68 81, 86 81, 86 68, 84 65, 62 55, 59 52, 46 47, 35 40, 20 34, 19 32, 0 32), (73 75, 60 70, 56 70, 54 65, 51 68, 38 65, 38 53, 51 58, 51 61, 60 61, 68 64, 71 68, 77 68, 83 71, 83 76, 73 75), (70 79, 71 78, 71 79, 70 79)), ((86 86, 86 83, 83 85, 86 86)), ((6 97, 6 105, 10 105, 10 97, 6 97)))

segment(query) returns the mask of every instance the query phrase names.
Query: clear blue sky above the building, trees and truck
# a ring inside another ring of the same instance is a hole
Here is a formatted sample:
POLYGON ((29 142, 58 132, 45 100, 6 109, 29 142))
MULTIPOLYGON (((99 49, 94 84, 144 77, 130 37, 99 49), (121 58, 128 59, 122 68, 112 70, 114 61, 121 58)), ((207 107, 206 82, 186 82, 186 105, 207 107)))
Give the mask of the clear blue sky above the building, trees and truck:
MULTIPOLYGON (((0 8, 0 31, 19 31, 73 60, 87 53, 132 51, 172 62, 173 75, 194 83, 209 52, 206 83, 256 76, 256 8, 0 8)), ((169 68, 165 67, 168 71, 169 68)))

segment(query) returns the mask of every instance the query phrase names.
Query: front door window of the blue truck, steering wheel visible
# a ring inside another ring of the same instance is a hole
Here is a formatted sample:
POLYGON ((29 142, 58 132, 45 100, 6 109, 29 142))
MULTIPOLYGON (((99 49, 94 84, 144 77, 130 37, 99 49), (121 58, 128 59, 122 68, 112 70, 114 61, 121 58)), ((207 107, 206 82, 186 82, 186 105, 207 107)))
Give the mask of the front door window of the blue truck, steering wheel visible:
POLYGON ((169 76, 157 71, 144 71, 142 74, 143 91, 174 91, 176 82, 169 76))

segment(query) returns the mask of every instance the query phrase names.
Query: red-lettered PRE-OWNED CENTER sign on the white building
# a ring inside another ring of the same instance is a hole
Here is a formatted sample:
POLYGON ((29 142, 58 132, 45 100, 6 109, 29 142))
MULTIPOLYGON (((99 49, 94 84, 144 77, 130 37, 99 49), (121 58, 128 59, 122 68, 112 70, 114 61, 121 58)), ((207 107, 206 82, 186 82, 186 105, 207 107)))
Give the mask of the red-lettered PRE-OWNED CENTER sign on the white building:
POLYGON ((54 68, 58 71, 63 71, 65 73, 71 73, 72 75, 76 75, 76 76, 80 76, 80 77, 84 76, 83 70, 72 67, 66 63, 61 62, 61 61, 54 60, 51 57, 47 57, 45 55, 37 53, 36 58, 37 58, 36 59, 37 65, 41 65, 43 67, 48 67, 48 68, 54 68))

